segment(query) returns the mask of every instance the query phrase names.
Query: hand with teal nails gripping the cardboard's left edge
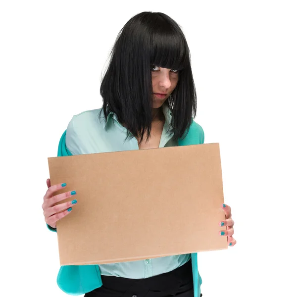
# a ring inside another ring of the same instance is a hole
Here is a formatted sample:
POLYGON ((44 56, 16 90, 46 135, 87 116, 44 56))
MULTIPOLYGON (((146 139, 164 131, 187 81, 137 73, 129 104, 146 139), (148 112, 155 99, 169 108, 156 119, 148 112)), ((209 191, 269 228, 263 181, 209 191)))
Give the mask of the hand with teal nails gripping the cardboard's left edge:
MULTIPOLYGON (((42 204, 42 209, 44 210, 44 216, 46 223, 52 227, 56 228, 56 222, 66 216, 68 213, 71 212, 72 208, 70 209, 73 204, 76 204, 75 201, 72 204, 72 201, 68 201, 65 203, 54 205, 55 203, 62 201, 68 197, 71 197, 76 194, 75 191, 62 193, 59 195, 53 195, 56 191, 60 189, 64 189, 65 187, 62 187, 62 184, 57 184, 50 186, 50 179, 47 179, 47 185, 48 185, 48 191, 46 195, 44 196, 44 202, 42 204), (72 193, 72 194, 71 194, 72 193), (69 209, 69 211, 68 211, 69 209), (61 211, 61 212, 60 212, 61 211)), ((76 200, 76 199, 75 199, 76 200)))

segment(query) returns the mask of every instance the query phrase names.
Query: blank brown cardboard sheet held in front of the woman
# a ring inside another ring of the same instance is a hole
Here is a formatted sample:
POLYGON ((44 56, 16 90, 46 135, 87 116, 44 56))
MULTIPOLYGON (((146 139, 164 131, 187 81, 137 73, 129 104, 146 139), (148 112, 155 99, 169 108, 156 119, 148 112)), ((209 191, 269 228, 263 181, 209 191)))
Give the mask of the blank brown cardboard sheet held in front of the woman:
POLYGON ((77 194, 57 221, 60 265, 226 249, 219 144, 48 158, 51 185, 77 194))

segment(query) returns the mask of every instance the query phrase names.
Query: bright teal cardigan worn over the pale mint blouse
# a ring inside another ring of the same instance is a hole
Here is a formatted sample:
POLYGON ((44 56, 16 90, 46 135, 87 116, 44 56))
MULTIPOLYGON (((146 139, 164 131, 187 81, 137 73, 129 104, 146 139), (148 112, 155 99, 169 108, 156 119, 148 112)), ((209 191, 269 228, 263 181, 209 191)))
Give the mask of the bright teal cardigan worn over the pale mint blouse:
MULTIPOLYGON (((71 156, 72 153, 66 148, 65 137, 66 131, 63 133, 58 147, 58 157, 71 156)), ((204 143, 204 132, 199 124, 192 121, 189 133, 182 140, 178 140, 179 146, 199 145, 204 143)), ((47 225, 49 230, 56 232, 47 225)), ((194 282, 194 297, 200 297, 200 285, 202 279, 198 272, 197 252, 191 254, 192 256, 192 271, 194 282)), ((98 265, 64 265, 60 266, 57 276, 58 287, 68 295, 82 295, 93 291, 102 286, 102 280, 98 265)))

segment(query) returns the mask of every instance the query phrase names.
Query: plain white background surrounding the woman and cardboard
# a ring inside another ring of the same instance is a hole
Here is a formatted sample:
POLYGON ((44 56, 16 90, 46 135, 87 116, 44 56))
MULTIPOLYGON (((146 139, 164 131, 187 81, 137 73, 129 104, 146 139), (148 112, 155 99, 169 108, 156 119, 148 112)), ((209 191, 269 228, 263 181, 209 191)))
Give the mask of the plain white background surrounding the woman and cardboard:
POLYGON ((67 296, 41 207, 48 157, 74 114, 101 107, 120 29, 159 11, 187 38, 195 120, 220 144, 235 221, 235 247, 198 253, 203 297, 297 296, 296 1, 103 2, 0 2, 0 295, 67 296))

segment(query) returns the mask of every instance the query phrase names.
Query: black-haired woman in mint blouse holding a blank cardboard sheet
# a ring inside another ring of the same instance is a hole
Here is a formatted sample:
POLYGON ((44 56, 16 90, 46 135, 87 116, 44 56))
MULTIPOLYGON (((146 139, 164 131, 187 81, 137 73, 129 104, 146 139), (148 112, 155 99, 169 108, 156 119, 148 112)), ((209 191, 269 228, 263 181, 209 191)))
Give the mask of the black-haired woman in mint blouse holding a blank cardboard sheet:
MULTIPOLYGON (((179 25, 166 14, 142 12, 126 23, 111 52, 100 94, 103 107, 73 116, 58 155, 179 146, 185 145, 190 134, 194 143, 204 142, 201 126, 193 122, 197 97, 190 51, 179 25)), ((54 206, 76 192, 54 196, 66 184, 51 186, 48 179, 47 185, 45 221, 56 231, 57 220, 68 215, 78 201, 54 206)), ((231 209, 225 204, 222 209, 226 220, 219 225, 228 226, 223 236, 234 246, 231 209)), ((199 297, 201 282, 197 253, 62 266, 57 279, 67 294, 86 297, 199 297)))

